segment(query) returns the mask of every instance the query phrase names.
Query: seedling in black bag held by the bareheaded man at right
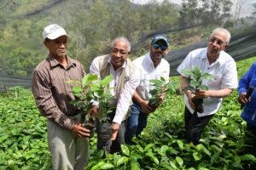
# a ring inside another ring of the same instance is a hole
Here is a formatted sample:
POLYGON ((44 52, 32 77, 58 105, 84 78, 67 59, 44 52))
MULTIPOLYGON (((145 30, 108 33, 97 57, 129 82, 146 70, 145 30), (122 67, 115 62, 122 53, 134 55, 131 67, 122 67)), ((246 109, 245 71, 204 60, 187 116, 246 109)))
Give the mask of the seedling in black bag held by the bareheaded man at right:
MULTIPOLYGON (((199 92, 200 90, 208 90, 206 85, 202 85, 203 80, 212 79, 212 75, 209 73, 202 73, 199 67, 194 67, 192 70, 184 69, 182 73, 187 77, 186 80, 189 83, 185 90, 190 90, 192 94, 199 92)), ((204 112, 203 99, 201 98, 192 98, 193 103, 195 104, 195 111, 202 113, 204 112)))

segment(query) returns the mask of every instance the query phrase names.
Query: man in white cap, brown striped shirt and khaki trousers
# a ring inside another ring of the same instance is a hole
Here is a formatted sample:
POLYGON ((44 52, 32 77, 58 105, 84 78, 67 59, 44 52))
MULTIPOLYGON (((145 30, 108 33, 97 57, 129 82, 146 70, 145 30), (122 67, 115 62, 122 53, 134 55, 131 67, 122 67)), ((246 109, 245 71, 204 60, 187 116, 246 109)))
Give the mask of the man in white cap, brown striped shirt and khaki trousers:
POLYGON ((90 130, 81 125, 81 111, 71 105, 73 84, 84 70, 79 61, 67 56, 67 32, 56 24, 43 31, 49 56, 37 65, 32 93, 43 116, 48 118, 48 144, 53 169, 84 169, 88 161, 90 130))

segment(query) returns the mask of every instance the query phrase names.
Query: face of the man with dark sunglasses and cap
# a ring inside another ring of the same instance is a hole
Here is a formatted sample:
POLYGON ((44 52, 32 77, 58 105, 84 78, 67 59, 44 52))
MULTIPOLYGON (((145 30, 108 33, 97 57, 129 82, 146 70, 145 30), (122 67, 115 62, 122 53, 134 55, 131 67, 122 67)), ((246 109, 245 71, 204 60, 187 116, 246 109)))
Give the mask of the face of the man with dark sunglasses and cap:
POLYGON ((160 62, 160 60, 167 54, 168 47, 166 46, 166 42, 157 41, 150 46, 150 57, 153 62, 160 62))

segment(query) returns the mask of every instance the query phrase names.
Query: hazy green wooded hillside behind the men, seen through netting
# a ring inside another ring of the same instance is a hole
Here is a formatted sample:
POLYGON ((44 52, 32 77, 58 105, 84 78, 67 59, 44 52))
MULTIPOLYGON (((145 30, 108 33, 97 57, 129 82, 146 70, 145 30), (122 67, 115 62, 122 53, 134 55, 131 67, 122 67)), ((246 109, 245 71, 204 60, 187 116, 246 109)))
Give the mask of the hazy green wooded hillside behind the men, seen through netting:
POLYGON ((166 32, 173 49, 206 38, 212 27, 227 22, 231 23, 227 25, 231 31, 234 27, 230 0, 183 1, 181 6, 170 2, 150 0, 138 5, 129 0, 3 0, 0 71, 30 77, 35 65, 47 56, 41 33, 52 23, 65 27, 71 37, 68 54, 79 59, 86 71, 93 58, 108 53, 114 37, 127 37, 132 42, 131 58, 135 58, 148 50, 148 38, 156 32, 166 32), (175 31, 202 22, 206 25, 175 31))

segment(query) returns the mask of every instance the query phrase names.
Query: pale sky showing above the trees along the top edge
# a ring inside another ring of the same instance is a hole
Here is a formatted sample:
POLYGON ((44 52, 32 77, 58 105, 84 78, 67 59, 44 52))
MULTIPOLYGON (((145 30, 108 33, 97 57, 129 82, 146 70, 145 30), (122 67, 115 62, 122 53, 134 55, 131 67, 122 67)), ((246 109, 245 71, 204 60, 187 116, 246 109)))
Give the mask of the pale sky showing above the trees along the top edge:
MULTIPOLYGON (((132 3, 145 4, 148 3, 149 0, 131 0, 132 3)), ((157 0, 159 3, 163 2, 163 0, 157 0)), ((181 4, 182 0, 170 0, 172 3, 181 4)), ((251 15, 253 13, 253 3, 256 3, 256 0, 232 0, 233 8, 232 11, 235 14, 236 2, 242 2, 243 6, 241 8, 241 17, 251 15)))

